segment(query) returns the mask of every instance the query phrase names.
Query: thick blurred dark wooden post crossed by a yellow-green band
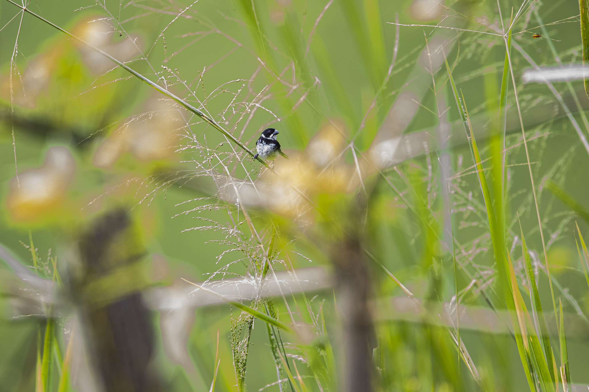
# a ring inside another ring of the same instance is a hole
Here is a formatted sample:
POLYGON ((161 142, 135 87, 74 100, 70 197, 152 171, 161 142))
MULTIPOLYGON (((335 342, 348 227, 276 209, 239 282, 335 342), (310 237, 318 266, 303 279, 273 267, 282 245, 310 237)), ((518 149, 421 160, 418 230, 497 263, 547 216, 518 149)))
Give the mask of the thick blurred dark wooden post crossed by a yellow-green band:
POLYGON ((143 245, 124 210, 97 219, 82 233, 80 265, 71 274, 81 324, 95 373, 105 392, 159 392, 148 368, 154 351, 151 314, 141 299, 145 288, 143 245))

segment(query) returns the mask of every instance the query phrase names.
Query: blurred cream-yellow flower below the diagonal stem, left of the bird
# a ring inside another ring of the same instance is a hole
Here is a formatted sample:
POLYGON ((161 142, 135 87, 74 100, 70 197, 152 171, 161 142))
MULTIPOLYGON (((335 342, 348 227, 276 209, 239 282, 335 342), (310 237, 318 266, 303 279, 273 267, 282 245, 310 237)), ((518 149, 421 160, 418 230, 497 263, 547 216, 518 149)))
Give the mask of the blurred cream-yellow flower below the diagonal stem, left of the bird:
POLYGON ((166 159, 173 153, 186 123, 171 99, 151 99, 147 112, 133 116, 115 129, 92 158, 97 167, 111 167, 125 152, 143 161, 166 159))

